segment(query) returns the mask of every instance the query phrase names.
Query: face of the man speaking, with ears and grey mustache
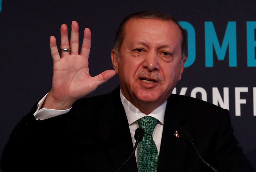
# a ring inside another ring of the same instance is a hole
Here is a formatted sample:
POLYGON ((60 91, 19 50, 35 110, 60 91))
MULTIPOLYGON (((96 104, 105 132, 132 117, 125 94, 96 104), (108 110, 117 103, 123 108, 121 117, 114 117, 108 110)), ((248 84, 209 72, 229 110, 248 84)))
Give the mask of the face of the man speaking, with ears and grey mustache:
POLYGON ((112 61, 124 97, 137 108, 158 107, 171 95, 187 59, 181 62, 181 39, 173 21, 132 18, 125 24, 120 60, 113 50, 112 61))

